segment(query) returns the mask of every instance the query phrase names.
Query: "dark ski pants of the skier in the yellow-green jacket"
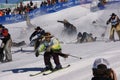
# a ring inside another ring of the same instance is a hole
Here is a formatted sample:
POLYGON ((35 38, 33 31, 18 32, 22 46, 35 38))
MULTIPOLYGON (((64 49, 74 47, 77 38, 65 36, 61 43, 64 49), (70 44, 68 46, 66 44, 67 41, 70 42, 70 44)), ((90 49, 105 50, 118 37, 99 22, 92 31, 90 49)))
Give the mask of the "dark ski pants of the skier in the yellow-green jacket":
POLYGON ((45 52, 44 53, 44 63, 46 66, 50 66, 52 67, 52 64, 51 64, 51 57, 53 57, 53 60, 54 60, 54 63, 57 65, 60 65, 60 60, 59 60, 59 55, 57 53, 54 53, 54 52, 45 52))

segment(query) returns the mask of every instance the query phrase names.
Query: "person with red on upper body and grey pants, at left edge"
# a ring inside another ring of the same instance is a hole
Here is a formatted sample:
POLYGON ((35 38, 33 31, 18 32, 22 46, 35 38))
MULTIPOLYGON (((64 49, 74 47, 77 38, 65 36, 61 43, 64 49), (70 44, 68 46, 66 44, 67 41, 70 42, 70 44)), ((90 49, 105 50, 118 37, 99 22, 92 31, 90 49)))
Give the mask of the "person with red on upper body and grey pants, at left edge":
POLYGON ((11 46, 12 39, 11 35, 8 32, 8 29, 0 25, 0 39, 2 40, 3 51, 5 51, 5 60, 3 62, 12 61, 11 46))

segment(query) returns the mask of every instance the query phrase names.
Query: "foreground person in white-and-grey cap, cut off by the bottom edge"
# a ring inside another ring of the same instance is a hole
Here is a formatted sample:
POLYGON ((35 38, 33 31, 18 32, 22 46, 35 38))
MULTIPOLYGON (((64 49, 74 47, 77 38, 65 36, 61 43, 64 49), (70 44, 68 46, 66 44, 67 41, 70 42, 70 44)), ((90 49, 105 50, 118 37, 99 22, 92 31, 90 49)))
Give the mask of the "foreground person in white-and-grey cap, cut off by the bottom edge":
POLYGON ((117 80, 114 70, 110 68, 109 62, 104 58, 94 61, 92 72, 91 80, 117 80))

